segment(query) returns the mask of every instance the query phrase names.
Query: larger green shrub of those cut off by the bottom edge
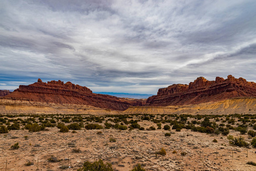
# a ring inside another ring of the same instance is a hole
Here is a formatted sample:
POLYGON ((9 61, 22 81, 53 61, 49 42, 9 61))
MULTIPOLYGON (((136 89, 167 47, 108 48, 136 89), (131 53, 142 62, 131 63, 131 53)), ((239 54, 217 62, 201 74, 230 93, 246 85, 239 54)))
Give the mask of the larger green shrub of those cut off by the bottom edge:
POLYGON ((113 171, 112 165, 108 162, 104 164, 103 160, 95 161, 93 163, 86 161, 84 162, 83 168, 78 169, 78 171, 113 171))

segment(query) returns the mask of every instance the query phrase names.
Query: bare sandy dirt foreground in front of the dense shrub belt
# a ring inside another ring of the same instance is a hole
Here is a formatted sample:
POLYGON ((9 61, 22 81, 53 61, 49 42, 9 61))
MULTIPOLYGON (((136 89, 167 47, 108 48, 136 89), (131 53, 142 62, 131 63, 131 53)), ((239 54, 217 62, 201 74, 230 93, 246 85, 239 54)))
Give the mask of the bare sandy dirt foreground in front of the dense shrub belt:
MULTIPOLYGON (((7 170, 76 170, 85 161, 93 162, 99 158, 111 163, 116 170, 131 170, 137 163, 146 170, 256 170, 256 166, 246 164, 247 161, 256 162, 256 149, 247 151, 246 148, 231 146, 226 136, 186 129, 172 131, 169 137, 165 137, 165 133, 170 131, 164 129, 104 129, 101 135, 97 134, 99 130, 84 131, 84 128, 71 132, 60 133, 54 127, 48 131, 15 130, 1 134, 0 170, 6 169, 6 160, 7 170), (109 142, 111 137, 116 142, 109 142), (218 143, 213 143, 214 139, 218 143), (11 150, 10 146, 17 142, 20 148, 11 150), (156 156, 161 148, 166 150, 166 156, 156 156), (74 149, 81 152, 75 153, 74 149), (174 150, 177 153, 172 153, 174 150), (181 156, 181 152, 186 152, 186 155, 181 156), (60 161, 48 161, 52 156, 60 161), (25 166, 28 161, 34 165, 25 166)), ((230 131, 230 135, 240 136, 235 131, 230 131)))

